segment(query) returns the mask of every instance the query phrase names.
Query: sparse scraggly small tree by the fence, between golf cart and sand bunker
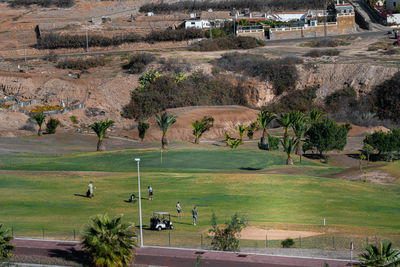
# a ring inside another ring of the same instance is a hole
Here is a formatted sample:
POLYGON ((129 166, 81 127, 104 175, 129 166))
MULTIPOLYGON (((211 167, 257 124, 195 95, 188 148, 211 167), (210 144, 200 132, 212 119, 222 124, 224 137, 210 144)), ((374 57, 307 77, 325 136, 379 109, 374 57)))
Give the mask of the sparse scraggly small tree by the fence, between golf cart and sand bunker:
POLYGON ((213 213, 211 233, 211 246, 215 250, 239 251, 239 235, 247 225, 244 217, 239 218, 235 213, 230 222, 226 222, 223 227, 216 224, 216 216, 213 213))

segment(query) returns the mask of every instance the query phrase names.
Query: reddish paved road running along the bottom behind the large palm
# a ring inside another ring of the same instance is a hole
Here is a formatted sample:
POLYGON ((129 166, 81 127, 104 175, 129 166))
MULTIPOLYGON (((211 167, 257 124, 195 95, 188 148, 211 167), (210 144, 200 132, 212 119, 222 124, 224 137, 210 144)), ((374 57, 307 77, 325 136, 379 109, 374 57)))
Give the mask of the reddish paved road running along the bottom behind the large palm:
MULTIPOLYGON (((84 253, 78 242, 45 241, 34 239, 14 239, 16 255, 37 255, 58 257, 66 260, 82 262, 84 253)), ((301 258, 272 256, 251 253, 216 252, 205 250, 144 247, 136 249, 135 263, 142 265, 186 267, 194 266, 199 260, 200 266, 207 267, 282 267, 282 266, 350 266, 348 261, 319 258, 301 258)))

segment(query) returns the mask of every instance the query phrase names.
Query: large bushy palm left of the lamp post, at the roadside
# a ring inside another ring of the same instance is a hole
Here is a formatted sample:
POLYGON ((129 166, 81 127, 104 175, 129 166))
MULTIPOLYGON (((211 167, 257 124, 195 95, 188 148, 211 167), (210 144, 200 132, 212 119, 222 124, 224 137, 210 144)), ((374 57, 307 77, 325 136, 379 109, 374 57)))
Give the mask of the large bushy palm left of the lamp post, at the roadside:
POLYGON ((94 266, 130 266, 135 253, 136 234, 121 216, 97 216, 84 231, 82 247, 89 253, 94 266))

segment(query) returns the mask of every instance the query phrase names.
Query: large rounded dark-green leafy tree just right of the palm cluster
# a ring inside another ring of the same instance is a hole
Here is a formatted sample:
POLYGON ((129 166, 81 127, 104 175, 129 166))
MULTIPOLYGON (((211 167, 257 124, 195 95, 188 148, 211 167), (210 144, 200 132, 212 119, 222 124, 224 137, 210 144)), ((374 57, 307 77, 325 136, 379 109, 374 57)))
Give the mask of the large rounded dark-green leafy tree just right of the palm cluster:
POLYGON ((334 120, 324 118, 312 124, 307 131, 307 147, 315 147, 321 157, 324 152, 342 151, 346 146, 348 131, 348 125, 339 126, 334 120))

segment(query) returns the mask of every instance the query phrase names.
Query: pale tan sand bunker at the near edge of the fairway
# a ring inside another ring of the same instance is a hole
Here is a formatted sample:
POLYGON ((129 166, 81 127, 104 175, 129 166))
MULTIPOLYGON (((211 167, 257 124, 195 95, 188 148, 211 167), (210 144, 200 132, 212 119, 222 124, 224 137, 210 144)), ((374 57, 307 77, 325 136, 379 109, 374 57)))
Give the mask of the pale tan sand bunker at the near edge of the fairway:
POLYGON ((247 227, 242 230, 240 239, 248 240, 265 240, 268 236, 268 240, 282 240, 286 238, 298 238, 310 237, 315 235, 320 235, 317 232, 307 232, 307 231, 289 231, 289 230, 275 230, 275 229, 261 229, 257 227, 247 227))

